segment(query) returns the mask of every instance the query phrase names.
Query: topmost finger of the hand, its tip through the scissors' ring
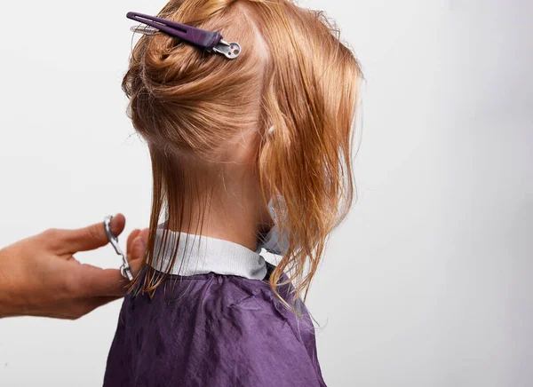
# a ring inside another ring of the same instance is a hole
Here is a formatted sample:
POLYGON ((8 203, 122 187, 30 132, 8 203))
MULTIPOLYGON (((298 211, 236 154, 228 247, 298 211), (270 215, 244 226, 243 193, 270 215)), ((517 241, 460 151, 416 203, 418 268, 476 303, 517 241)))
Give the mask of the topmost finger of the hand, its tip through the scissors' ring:
MULTIPOLYGON (((117 214, 111 219, 111 233, 118 236, 123 232, 126 225, 126 218, 122 214, 117 214)), ((78 251, 98 249, 107 245, 108 239, 104 223, 100 222, 77 230, 61 230, 60 240, 62 249, 68 254, 75 254, 78 251)))

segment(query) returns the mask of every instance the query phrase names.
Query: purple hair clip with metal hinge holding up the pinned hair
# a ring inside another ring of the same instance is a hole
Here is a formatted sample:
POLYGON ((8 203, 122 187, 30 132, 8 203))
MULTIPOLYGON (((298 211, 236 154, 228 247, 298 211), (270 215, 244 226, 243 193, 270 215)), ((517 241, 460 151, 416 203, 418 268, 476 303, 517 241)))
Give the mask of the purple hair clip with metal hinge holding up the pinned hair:
POLYGON ((176 36, 187 43, 197 47, 203 47, 210 52, 218 52, 229 59, 235 59, 241 54, 239 43, 226 42, 219 32, 206 31, 200 28, 187 26, 186 24, 176 23, 175 21, 156 18, 155 16, 144 15, 138 12, 128 12, 126 18, 139 21, 150 27, 138 26, 132 27, 132 32, 144 35, 155 35, 158 32, 164 32, 170 36, 176 36))

